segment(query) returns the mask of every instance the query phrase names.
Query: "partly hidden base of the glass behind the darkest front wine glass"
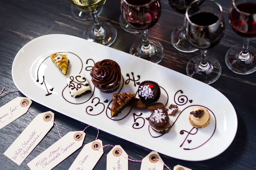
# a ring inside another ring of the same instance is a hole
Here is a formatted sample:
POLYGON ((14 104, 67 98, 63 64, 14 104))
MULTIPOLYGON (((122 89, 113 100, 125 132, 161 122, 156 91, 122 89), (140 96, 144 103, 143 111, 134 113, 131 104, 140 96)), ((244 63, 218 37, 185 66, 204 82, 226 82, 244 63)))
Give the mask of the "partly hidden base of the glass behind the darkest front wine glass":
POLYGON ((198 51, 194 46, 192 46, 189 40, 184 36, 183 25, 175 28, 171 34, 171 43, 175 49, 184 52, 192 53, 198 51))

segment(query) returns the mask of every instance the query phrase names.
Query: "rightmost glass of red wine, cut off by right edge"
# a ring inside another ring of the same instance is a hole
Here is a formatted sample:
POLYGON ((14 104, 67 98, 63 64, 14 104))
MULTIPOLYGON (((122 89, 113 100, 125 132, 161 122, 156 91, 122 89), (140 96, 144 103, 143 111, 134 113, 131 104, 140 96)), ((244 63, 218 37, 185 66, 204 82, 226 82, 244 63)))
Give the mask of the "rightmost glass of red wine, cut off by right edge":
POLYGON ((256 0, 233 0, 229 8, 229 23, 243 45, 229 49, 225 62, 234 73, 246 75, 256 71, 256 49, 249 46, 249 38, 256 36, 256 0))

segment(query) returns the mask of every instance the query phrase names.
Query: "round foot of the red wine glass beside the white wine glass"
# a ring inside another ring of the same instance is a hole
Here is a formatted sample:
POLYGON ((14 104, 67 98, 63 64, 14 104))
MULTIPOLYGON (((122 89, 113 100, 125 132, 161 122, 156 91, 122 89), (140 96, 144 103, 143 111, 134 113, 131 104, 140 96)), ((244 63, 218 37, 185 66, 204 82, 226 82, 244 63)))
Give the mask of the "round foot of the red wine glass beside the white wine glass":
POLYGON ((153 55, 144 55, 141 53, 141 46, 143 44, 142 39, 132 45, 130 48, 130 54, 158 64, 164 58, 164 47, 159 41, 153 38, 149 38, 148 42, 152 45, 153 49, 155 49, 155 53, 153 55))

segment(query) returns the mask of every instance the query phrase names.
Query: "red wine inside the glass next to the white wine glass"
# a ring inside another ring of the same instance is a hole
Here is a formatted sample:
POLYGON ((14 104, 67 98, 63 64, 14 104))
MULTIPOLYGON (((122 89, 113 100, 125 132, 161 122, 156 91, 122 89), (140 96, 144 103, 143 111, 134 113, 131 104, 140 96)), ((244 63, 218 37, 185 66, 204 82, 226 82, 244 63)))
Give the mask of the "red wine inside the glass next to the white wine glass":
POLYGON ((161 15, 161 8, 156 0, 126 0, 130 5, 123 4, 126 22, 135 29, 143 30, 154 26, 161 15), (144 5, 148 4, 148 5, 144 5), (139 6, 139 9, 136 7, 139 6))

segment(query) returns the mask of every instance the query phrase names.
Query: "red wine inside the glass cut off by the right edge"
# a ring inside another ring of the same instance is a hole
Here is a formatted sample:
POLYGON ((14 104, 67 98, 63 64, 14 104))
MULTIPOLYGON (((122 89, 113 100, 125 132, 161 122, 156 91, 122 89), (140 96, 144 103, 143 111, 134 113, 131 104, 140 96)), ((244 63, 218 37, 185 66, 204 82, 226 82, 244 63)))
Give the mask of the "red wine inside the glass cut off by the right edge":
MULTIPOLYGON (((245 2, 238 4, 237 9, 245 13, 256 13, 256 3, 245 2)), ((255 37, 256 36, 256 15, 243 15, 240 18, 240 11, 232 9, 230 15, 232 18, 230 24, 232 29, 242 37, 255 37)))

